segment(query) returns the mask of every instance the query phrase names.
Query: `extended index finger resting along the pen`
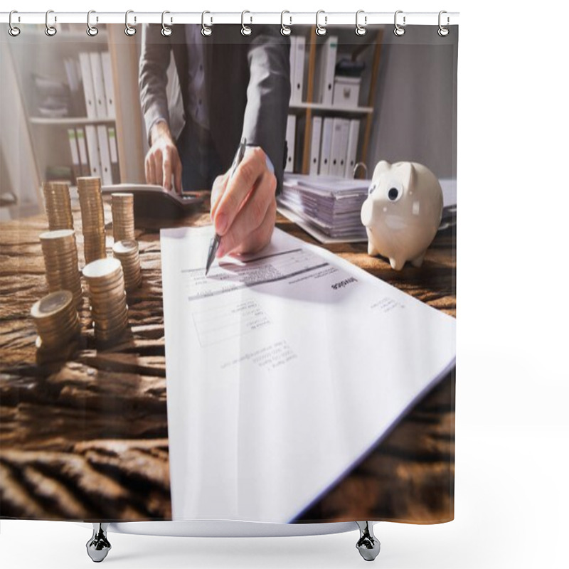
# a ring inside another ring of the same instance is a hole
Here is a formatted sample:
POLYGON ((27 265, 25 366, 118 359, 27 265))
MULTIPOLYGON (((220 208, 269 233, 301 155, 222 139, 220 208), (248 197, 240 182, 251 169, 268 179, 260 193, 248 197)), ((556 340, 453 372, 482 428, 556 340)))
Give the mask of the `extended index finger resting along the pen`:
POLYGON ((213 212, 218 235, 223 235, 233 224, 245 198, 265 172, 270 174, 267 171, 265 152, 259 147, 252 147, 245 154, 233 178, 228 180, 227 188, 218 201, 216 211, 213 212))

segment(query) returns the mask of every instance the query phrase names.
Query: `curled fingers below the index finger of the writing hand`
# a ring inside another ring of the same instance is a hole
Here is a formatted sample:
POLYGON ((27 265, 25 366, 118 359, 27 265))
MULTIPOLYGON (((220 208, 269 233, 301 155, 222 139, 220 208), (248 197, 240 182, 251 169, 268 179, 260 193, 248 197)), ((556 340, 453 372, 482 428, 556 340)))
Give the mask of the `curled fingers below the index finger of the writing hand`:
POLYGON ((255 252, 267 245, 275 226, 276 184, 275 176, 265 171, 221 238, 218 257, 229 252, 255 252))

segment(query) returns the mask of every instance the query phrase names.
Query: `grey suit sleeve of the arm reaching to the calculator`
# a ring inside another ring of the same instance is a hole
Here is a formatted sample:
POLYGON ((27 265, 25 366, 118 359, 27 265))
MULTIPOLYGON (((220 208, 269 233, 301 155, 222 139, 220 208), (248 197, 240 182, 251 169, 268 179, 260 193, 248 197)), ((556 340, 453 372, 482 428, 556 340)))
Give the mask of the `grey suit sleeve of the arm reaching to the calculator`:
POLYGON ((164 38, 160 31, 159 24, 145 23, 142 26, 138 84, 149 142, 150 129, 157 119, 170 122, 166 85, 171 44, 169 38, 164 38))

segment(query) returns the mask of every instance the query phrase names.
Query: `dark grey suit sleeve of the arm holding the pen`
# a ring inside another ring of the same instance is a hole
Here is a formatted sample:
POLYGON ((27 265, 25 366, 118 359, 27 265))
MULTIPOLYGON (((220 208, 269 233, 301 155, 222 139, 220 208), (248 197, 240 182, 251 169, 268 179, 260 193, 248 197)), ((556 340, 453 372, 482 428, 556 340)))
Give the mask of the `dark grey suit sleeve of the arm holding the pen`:
POLYGON ((250 80, 243 119, 248 144, 260 146, 275 167, 282 188, 285 135, 290 99, 290 40, 280 26, 255 26, 248 48, 250 80))

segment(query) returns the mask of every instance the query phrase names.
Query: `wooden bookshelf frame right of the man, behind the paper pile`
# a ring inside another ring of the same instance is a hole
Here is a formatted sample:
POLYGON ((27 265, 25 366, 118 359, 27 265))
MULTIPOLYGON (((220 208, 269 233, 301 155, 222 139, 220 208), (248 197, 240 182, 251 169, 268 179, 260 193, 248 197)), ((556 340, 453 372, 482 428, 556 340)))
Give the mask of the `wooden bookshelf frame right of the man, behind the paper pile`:
POLYGON ((381 60, 383 27, 368 31, 365 36, 356 36, 353 26, 327 26, 326 35, 317 36, 314 26, 294 26, 292 36, 300 36, 306 42, 302 100, 291 100, 289 104, 289 115, 294 115, 297 119, 297 126, 300 125, 300 132, 297 131, 295 136, 294 154, 298 156, 300 153, 302 159, 295 159, 294 171, 301 174, 309 173, 313 117, 359 119, 356 162, 367 162, 371 124, 375 111, 374 101, 381 60), (321 79, 317 69, 317 60, 321 57, 321 51, 330 37, 338 39, 336 62, 340 58, 348 58, 365 63, 357 105, 317 102, 317 81, 321 79))

